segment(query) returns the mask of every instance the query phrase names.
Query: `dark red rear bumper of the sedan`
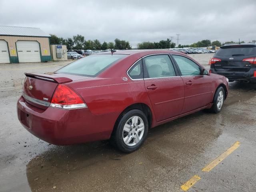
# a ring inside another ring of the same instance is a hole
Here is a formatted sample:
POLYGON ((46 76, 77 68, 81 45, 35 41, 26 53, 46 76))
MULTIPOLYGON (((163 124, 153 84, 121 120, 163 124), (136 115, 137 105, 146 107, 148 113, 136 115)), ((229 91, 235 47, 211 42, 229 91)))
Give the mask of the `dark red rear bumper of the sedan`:
POLYGON ((21 96, 18 119, 34 136, 55 145, 69 145, 109 139, 118 114, 92 115, 88 108, 42 110, 21 96))

